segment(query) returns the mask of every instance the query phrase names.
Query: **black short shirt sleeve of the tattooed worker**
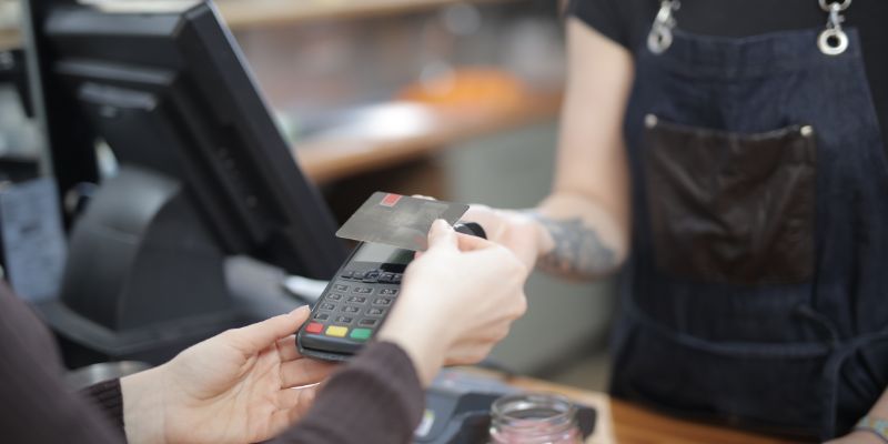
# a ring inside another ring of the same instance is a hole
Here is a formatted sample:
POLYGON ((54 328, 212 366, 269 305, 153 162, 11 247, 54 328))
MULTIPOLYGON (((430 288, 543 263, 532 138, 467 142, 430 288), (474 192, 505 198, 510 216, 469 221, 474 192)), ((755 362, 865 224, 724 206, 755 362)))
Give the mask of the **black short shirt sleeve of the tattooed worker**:
POLYGON ((567 14, 635 50, 647 34, 659 0, 568 0, 567 14))

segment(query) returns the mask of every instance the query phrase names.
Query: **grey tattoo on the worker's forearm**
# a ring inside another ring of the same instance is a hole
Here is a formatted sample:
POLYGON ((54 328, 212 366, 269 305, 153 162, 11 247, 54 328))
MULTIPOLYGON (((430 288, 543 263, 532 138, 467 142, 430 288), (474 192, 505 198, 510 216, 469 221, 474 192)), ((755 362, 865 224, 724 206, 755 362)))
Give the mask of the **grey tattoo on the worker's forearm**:
POLYGON ((602 242, 595 229, 579 218, 555 220, 534 214, 555 242, 555 248, 539 258, 537 266, 577 278, 601 276, 618 265, 617 254, 602 242))

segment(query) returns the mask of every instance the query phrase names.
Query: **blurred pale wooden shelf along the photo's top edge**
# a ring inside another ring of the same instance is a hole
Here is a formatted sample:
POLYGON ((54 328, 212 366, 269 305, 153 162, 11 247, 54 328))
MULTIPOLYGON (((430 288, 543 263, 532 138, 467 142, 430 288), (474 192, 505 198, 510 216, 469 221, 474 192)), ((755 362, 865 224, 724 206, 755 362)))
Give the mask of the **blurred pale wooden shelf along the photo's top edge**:
MULTIPOLYGON (((515 0, 471 0, 494 3, 515 0)), ((233 30, 313 20, 345 20, 416 12, 465 0, 218 0, 216 7, 233 30)))

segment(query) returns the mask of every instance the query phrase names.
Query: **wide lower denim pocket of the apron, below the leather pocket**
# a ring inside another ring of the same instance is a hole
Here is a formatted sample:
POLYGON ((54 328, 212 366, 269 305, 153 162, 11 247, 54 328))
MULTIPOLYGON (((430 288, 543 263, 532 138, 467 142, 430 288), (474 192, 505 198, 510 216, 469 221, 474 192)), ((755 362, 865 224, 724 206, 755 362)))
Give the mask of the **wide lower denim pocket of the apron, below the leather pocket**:
POLYGON ((820 434, 826 345, 708 343, 637 325, 623 350, 612 387, 617 396, 692 420, 801 438, 820 434))

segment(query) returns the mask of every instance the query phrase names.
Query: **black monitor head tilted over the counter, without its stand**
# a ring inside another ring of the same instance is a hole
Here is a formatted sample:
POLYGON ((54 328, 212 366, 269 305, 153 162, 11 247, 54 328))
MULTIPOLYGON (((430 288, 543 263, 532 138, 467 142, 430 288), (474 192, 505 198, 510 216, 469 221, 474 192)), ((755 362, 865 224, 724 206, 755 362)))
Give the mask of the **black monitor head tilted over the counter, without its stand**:
POLYGON ((336 271, 345 252, 334 220, 212 3, 60 6, 48 13, 44 36, 51 75, 122 171, 181 184, 228 253, 310 278, 336 271))

